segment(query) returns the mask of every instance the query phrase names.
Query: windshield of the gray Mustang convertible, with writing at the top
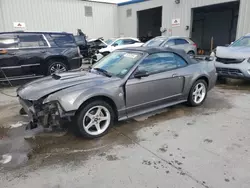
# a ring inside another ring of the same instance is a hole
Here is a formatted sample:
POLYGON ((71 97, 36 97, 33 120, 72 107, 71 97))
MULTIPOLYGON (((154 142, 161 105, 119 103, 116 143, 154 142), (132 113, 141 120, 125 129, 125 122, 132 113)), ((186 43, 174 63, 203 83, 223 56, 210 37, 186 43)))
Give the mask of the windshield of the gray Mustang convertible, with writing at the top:
POLYGON ((101 59, 93 70, 102 69, 112 76, 123 78, 142 57, 142 53, 116 51, 101 59))

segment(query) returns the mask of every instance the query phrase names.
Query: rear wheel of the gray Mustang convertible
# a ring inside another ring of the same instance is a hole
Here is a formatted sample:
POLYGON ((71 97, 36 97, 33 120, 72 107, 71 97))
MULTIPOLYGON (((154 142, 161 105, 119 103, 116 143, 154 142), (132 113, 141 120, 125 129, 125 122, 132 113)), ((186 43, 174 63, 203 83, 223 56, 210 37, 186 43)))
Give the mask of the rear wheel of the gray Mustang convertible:
POLYGON ((205 80, 197 80, 188 96, 188 104, 190 106, 200 106, 204 103, 207 97, 207 82, 205 80))

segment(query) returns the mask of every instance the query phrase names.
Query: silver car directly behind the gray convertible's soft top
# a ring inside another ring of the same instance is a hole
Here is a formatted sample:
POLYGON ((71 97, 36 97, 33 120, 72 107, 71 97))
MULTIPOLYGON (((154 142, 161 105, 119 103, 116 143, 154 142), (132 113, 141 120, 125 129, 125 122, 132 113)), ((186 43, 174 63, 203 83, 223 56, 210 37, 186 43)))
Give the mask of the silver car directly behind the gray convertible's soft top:
POLYGON ((182 49, 190 56, 194 56, 197 54, 197 45, 188 37, 160 36, 160 37, 155 37, 149 40, 143 46, 145 47, 171 47, 173 49, 182 49))

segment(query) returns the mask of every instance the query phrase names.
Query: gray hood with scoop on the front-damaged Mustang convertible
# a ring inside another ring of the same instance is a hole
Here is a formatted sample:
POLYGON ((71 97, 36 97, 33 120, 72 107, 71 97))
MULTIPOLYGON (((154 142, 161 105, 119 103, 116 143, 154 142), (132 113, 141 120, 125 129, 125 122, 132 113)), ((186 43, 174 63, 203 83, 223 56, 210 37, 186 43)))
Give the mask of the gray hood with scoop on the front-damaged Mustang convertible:
POLYGON ((103 85, 119 78, 105 77, 99 74, 78 71, 48 76, 25 84, 17 89, 17 95, 26 100, 38 100, 57 91, 82 85, 83 88, 103 85))

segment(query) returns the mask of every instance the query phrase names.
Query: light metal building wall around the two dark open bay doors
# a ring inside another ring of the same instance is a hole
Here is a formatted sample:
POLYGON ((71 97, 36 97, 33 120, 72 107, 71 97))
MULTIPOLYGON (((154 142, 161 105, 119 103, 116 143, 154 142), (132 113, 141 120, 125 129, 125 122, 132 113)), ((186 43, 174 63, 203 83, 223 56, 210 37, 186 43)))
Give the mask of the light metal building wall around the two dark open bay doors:
MULTIPOLYGON (((192 8, 226 3, 237 0, 181 0, 180 4, 175 4, 174 0, 151 0, 137 4, 124 5, 118 7, 120 35, 137 37, 137 11, 163 6, 162 27, 172 29, 172 35, 190 36, 190 30, 186 26, 191 26, 192 8), (127 17, 126 11, 132 9, 132 16, 127 17), (181 19, 181 26, 172 28, 173 18, 181 19)), ((250 32, 250 0, 240 1, 240 12, 238 20, 237 38, 250 32)), ((169 33, 165 33, 168 35, 169 33)))

